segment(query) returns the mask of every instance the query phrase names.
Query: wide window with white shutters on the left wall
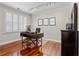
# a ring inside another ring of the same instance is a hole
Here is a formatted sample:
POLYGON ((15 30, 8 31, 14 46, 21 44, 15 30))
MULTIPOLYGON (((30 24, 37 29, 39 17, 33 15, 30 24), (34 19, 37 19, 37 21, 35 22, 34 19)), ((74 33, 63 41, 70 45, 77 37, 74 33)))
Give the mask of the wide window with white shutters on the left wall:
POLYGON ((26 31, 27 18, 17 14, 6 13, 6 32, 26 31))

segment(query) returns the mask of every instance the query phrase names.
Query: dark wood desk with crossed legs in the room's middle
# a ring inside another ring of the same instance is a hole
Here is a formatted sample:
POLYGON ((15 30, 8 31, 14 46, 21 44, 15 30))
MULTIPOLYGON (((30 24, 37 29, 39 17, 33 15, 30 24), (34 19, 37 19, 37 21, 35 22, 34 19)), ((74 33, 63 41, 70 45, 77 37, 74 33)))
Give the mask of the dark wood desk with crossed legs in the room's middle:
POLYGON ((44 36, 44 33, 35 33, 35 32, 21 32, 20 36, 22 37, 22 41, 24 42, 25 40, 23 40, 23 37, 26 37, 28 39, 26 40, 31 40, 32 43, 35 45, 35 47, 38 47, 39 44, 39 39, 41 38, 41 46, 42 46, 42 37, 44 36))

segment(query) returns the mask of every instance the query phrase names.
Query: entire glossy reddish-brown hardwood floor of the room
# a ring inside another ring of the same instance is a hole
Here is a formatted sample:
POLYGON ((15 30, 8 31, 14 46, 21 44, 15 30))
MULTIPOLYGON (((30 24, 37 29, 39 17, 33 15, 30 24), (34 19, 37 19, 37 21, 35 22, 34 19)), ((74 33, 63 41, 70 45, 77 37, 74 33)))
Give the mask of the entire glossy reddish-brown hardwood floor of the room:
POLYGON ((55 41, 48 41, 38 48, 26 48, 22 50, 21 41, 0 46, 2 56, 60 56, 61 44, 55 41))

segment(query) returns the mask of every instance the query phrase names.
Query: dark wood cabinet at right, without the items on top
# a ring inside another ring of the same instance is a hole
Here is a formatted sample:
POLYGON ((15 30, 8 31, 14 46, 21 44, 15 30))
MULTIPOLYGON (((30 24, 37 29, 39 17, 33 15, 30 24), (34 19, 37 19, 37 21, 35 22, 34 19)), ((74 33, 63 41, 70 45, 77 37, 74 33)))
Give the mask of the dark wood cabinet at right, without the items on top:
POLYGON ((61 31, 61 55, 62 56, 75 56, 77 55, 77 40, 75 37, 75 31, 61 31))

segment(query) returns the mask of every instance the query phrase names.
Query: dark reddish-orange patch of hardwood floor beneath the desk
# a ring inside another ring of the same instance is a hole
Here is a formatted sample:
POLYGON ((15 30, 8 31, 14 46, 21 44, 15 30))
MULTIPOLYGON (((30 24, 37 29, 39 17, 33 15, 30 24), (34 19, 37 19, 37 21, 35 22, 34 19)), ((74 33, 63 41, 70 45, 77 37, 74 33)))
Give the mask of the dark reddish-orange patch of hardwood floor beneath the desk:
POLYGON ((39 51, 39 48, 27 48, 21 51, 22 56, 43 56, 43 53, 39 51))

